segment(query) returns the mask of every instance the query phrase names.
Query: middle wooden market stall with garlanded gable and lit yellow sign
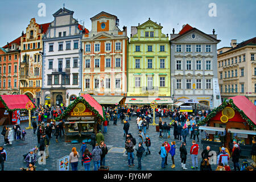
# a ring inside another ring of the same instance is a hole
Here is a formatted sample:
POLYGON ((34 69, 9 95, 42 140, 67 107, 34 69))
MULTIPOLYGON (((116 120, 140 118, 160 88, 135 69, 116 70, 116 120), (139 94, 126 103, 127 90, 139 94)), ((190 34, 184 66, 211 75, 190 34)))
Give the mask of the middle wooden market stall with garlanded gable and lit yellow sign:
POLYGON ((77 97, 55 121, 64 122, 65 142, 88 138, 104 121, 104 108, 89 94, 77 97))

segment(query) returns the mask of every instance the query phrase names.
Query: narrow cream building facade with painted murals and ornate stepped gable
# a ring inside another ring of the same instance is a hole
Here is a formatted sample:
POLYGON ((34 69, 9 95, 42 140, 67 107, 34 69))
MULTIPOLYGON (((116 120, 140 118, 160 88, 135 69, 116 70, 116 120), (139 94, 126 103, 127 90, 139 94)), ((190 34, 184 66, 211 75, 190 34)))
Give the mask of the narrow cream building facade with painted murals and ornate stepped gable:
POLYGON ((20 94, 27 93, 35 105, 41 104, 42 87, 42 37, 49 23, 38 24, 35 18, 30 20, 26 33, 20 38, 20 94))

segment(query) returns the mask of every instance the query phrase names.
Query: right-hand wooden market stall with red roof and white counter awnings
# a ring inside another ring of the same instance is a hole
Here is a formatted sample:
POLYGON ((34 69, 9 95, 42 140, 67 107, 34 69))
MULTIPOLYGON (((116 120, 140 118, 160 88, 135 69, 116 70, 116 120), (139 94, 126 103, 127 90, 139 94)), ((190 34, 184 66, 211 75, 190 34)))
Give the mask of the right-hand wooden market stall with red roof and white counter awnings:
POLYGON ((251 142, 256 135, 256 106, 245 96, 230 97, 214 109, 199 129, 208 137, 201 140, 204 147, 218 151, 222 145, 232 151, 233 140, 240 144, 241 155, 250 156, 251 142))

